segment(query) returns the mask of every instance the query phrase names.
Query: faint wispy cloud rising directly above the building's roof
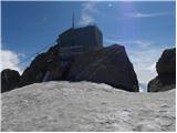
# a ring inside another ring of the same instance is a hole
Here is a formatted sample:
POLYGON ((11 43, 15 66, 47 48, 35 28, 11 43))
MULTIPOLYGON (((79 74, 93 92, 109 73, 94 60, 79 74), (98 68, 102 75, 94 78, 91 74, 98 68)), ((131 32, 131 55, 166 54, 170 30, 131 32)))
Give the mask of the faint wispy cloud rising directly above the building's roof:
POLYGON ((95 14, 98 12, 96 9, 97 2, 84 2, 82 3, 80 25, 93 24, 95 22, 95 14))

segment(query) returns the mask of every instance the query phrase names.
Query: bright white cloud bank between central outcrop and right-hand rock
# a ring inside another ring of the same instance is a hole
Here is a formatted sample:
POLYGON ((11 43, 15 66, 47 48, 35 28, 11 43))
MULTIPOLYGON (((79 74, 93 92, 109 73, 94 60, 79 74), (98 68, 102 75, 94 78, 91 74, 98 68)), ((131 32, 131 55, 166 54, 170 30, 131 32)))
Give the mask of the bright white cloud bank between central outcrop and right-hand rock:
POLYGON ((164 49, 150 47, 136 51, 126 50, 139 82, 148 83, 157 75, 155 65, 164 49))

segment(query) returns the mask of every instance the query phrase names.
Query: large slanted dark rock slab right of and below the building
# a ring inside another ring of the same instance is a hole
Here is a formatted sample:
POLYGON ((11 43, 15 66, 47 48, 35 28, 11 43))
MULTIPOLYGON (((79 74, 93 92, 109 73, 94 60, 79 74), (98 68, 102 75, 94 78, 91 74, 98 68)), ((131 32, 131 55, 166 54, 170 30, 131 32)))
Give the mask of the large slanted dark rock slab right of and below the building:
POLYGON ((138 81, 133 64, 125 48, 118 44, 90 51, 76 58, 67 80, 106 83, 126 91, 138 91, 138 81))

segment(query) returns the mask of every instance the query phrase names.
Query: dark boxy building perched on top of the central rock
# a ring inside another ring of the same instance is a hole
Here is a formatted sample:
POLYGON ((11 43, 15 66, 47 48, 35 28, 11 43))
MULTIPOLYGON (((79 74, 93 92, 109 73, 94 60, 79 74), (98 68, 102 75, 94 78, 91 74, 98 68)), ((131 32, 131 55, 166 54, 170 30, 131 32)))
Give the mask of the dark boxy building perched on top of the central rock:
POLYGON ((87 50, 102 48, 103 37, 96 25, 73 27, 59 35, 58 44, 61 59, 69 61, 87 50))

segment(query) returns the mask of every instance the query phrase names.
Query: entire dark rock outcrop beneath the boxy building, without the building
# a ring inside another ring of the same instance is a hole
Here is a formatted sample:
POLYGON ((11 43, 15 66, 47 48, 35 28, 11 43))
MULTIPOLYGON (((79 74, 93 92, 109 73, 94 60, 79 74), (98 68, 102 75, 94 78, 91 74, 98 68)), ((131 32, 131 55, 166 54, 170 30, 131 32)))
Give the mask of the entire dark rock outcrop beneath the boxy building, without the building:
POLYGON ((125 48, 114 44, 90 50, 63 68, 59 45, 39 54, 24 70, 18 86, 52 80, 107 83, 126 91, 138 92, 138 81, 125 48))

